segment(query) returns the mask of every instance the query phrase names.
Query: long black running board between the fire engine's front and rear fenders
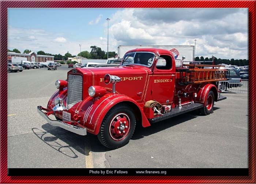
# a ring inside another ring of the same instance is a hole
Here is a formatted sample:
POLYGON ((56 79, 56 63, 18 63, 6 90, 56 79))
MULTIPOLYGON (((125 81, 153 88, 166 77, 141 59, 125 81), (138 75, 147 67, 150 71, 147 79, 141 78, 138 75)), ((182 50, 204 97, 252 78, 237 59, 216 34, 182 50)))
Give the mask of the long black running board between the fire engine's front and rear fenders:
POLYGON ((190 112, 190 111, 202 108, 202 107, 204 107, 204 106, 203 106, 203 104, 200 104, 200 103, 192 103, 192 104, 184 105, 181 108, 176 107, 176 108, 173 108, 172 111, 167 112, 162 116, 158 116, 158 117, 149 119, 149 122, 156 123, 156 122, 159 122, 159 121, 162 121, 165 119, 169 119, 174 116, 178 116, 178 115, 181 115, 181 114, 184 114, 184 113, 187 113, 187 112, 190 112))

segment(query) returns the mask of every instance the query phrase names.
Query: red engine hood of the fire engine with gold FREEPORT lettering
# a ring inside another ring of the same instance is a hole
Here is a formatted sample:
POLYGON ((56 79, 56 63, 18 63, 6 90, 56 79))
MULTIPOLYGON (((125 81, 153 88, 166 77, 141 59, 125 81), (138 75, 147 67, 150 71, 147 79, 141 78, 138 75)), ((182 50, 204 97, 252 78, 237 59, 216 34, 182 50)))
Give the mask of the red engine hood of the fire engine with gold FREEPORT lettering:
POLYGON ((88 88, 92 85, 102 86, 108 91, 112 90, 112 84, 106 85, 103 81, 105 74, 115 75, 121 78, 116 84, 116 92, 132 97, 134 100, 143 100, 144 92, 150 69, 143 66, 113 66, 101 68, 75 68, 68 74, 83 76, 83 99, 88 96, 88 88))

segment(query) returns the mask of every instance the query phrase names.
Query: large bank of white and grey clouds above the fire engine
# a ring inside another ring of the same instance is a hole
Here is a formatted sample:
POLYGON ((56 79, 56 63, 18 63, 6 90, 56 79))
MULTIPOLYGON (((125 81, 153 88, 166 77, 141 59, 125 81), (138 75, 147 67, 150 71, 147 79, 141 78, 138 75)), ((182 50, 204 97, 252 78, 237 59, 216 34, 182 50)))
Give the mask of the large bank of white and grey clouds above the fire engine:
POLYGON ((129 8, 111 20, 117 46, 194 45, 197 39, 196 56, 248 58, 246 8, 129 8))

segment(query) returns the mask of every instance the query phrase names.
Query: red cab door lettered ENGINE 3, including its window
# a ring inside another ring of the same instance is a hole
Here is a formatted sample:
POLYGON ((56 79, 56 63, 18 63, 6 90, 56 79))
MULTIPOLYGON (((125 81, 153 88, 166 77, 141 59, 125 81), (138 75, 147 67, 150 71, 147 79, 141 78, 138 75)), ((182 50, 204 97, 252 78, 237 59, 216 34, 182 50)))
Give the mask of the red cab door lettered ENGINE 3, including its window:
POLYGON ((152 100, 172 104, 175 90, 176 68, 174 58, 160 55, 152 75, 152 100))

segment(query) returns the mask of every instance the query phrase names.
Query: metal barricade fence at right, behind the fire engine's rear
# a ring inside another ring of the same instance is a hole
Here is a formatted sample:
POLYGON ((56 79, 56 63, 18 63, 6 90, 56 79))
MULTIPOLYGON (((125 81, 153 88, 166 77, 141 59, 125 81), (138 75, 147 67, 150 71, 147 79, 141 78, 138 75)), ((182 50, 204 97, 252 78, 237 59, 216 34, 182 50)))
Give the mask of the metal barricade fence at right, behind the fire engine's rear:
POLYGON ((220 90, 222 93, 248 93, 248 79, 239 81, 221 81, 220 90))

